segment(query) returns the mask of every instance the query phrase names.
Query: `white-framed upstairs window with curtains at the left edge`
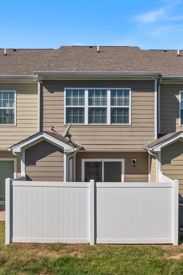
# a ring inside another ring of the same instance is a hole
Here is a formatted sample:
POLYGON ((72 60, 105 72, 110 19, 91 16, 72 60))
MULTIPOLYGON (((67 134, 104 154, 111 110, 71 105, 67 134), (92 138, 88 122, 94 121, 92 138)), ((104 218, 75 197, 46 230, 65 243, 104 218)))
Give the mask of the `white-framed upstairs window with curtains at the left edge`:
POLYGON ((16 91, 0 91, 0 124, 15 125, 16 91))

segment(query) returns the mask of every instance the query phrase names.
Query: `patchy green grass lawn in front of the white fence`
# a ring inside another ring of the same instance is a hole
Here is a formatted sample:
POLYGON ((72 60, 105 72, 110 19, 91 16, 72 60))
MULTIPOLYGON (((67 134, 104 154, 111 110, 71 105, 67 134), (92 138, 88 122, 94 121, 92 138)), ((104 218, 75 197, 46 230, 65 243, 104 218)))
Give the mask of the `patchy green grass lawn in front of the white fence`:
POLYGON ((0 222, 1 275, 182 275, 183 245, 11 243, 0 222))

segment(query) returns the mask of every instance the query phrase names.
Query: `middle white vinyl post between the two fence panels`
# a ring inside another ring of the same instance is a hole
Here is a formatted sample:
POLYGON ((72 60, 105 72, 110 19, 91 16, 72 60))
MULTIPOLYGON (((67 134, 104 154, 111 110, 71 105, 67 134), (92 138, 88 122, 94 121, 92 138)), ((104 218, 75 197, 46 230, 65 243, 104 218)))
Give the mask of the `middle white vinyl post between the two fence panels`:
POLYGON ((95 244, 95 202, 94 202, 94 180, 89 181, 89 243, 95 244))

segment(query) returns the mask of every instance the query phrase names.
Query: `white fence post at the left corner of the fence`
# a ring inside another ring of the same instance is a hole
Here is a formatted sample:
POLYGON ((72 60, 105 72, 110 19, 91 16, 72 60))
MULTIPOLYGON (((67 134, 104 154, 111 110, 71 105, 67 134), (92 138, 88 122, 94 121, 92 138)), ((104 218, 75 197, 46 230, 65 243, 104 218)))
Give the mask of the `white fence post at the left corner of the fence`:
POLYGON ((10 243, 10 181, 5 179, 5 244, 10 243))

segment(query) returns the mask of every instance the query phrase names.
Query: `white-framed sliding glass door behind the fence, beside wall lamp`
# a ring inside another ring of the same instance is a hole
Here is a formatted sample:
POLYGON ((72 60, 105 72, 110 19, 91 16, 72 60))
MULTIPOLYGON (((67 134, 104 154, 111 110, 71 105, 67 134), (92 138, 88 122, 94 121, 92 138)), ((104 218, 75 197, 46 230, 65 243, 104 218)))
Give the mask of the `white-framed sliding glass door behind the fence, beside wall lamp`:
POLYGON ((124 182, 124 159, 82 159, 83 182, 124 182))

